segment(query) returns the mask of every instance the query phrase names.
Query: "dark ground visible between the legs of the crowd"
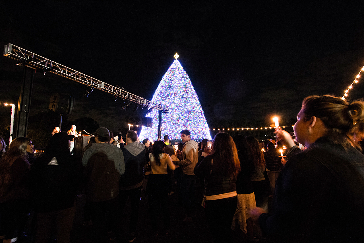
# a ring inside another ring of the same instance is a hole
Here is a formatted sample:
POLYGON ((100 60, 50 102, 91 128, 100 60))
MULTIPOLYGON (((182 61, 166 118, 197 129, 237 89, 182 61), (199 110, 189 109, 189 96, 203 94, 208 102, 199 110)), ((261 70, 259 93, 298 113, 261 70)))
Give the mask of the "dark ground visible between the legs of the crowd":
MULTIPOLYGON (((203 212, 203 208, 199 206, 202 201, 202 187, 197 183, 196 185, 196 204, 197 204, 197 217, 194 218, 193 223, 186 224, 183 223, 182 220, 185 217, 183 208, 177 205, 178 192, 176 187, 172 189, 175 193, 169 196, 169 205, 170 205, 170 215, 171 215, 171 229, 170 236, 162 236, 158 239, 154 238, 153 231, 151 229, 150 224, 150 216, 149 216, 149 205, 148 198, 145 197, 142 192, 142 200, 139 208, 139 226, 138 232, 139 236, 135 239, 134 242, 175 242, 175 243, 185 243, 185 242, 198 242, 198 243, 207 243, 213 242, 211 238, 209 228, 206 223, 205 214, 203 212)), ((267 195, 268 198, 268 195, 267 195)), ((77 208, 76 215, 74 219, 74 225, 71 233, 71 243, 91 243, 91 226, 83 225, 83 207, 85 204, 85 197, 81 196, 77 198, 77 208)), ((122 218, 123 225, 123 233, 127 235, 128 225, 130 221, 130 201, 127 202, 127 205, 124 209, 124 213, 126 216, 122 218)), ((28 221, 27 231, 30 228, 30 221, 28 221)), ((162 223, 162 218, 160 219, 160 223, 162 223)), ((159 228, 162 229, 162 225, 159 225, 159 228)), ((163 233, 163 232, 162 232, 163 233)), ((244 235, 241 235, 241 232, 234 232, 236 242, 245 242, 244 235)), ((31 240, 29 238, 19 240, 20 243, 30 243, 31 240)), ((51 243, 56 242, 51 241, 51 243)), ((109 243, 119 243, 117 240, 110 241, 107 240, 107 235, 105 234, 105 242, 109 243)), ((267 239, 261 239, 260 242, 266 243, 270 242, 267 239)))

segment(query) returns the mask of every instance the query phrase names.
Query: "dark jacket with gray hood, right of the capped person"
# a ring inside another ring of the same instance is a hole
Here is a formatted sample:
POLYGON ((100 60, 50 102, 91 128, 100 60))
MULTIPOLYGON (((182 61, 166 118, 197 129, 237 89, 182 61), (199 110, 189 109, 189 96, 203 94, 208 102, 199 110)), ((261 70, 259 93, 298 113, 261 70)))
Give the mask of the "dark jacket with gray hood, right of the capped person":
POLYGON ((145 164, 146 147, 133 142, 121 148, 125 161, 125 173, 120 177, 120 190, 138 188, 143 184, 143 166, 145 164))

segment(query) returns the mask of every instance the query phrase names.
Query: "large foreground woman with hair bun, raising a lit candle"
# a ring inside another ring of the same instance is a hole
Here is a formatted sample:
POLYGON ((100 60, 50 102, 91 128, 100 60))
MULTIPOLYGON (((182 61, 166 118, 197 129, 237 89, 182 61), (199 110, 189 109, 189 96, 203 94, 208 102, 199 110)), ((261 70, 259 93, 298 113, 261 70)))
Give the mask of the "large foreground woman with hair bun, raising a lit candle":
POLYGON ((348 134, 364 120, 364 102, 309 96, 302 102, 294 134, 276 129, 289 148, 276 184, 272 213, 254 209, 266 234, 281 242, 362 242, 364 155, 348 134))

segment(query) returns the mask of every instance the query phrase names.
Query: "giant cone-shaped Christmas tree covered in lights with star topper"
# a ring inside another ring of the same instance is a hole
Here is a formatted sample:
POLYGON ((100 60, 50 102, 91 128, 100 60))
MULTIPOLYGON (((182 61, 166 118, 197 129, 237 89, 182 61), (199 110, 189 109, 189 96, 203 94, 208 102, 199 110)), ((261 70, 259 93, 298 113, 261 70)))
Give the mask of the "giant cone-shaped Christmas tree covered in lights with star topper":
MULTIPOLYGON (((211 139, 209 126, 203 115, 201 104, 176 53, 175 61, 164 74, 155 90, 152 102, 167 107, 170 113, 162 113, 162 139, 168 135, 170 139, 180 139, 180 132, 187 129, 191 139, 211 139)), ((158 111, 153 110, 146 115, 153 118, 153 127, 143 127, 139 137, 142 139, 158 138, 158 111)))

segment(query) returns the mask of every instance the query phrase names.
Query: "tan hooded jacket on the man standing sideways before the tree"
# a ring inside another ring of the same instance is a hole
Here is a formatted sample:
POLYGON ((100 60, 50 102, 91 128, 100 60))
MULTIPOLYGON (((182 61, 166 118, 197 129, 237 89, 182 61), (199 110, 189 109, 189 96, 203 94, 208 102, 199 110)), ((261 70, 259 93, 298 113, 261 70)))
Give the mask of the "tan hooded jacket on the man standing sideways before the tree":
POLYGON ((198 144, 194 140, 189 140, 183 145, 181 161, 174 161, 175 165, 182 168, 182 172, 186 175, 195 175, 193 170, 198 161, 198 144))

